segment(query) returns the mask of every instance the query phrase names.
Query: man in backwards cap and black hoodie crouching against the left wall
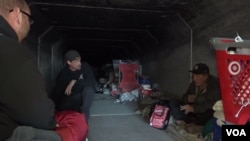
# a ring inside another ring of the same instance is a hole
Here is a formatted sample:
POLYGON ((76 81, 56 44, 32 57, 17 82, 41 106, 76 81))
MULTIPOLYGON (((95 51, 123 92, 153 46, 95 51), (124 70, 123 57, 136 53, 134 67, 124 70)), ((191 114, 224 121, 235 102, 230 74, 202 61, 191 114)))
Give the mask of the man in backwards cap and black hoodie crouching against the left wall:
POLYGON ((97 83, 94 72, 88 63, 81 62, 76 50, 68 51, 64 57, 67 66, 59 73, 51 98, 57 110, 75 110, 88 120, 97 83))

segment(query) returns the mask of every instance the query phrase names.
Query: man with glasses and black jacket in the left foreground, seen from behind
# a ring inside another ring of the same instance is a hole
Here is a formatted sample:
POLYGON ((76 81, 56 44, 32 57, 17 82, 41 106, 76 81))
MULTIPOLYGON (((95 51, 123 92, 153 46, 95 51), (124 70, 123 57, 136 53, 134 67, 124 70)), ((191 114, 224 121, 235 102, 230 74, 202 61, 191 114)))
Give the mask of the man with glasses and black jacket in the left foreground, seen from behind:
POLYGON ((45 140, 61 140, 53 131, 54 104, 34 56, 20 43, 29 32, 30 18, 24 0, 0 0, 0 141, 30 141, 34 132, 46 135, 45 140))

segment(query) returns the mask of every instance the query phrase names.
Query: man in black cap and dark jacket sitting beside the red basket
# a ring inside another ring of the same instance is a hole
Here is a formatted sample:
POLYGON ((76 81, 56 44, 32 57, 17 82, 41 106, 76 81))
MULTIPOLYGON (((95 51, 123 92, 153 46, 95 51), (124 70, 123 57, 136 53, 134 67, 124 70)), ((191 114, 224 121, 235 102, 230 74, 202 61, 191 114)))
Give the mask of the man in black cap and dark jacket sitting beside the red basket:
POLYGON ((186 125, 189 133, 196 133, 213 118, 212 107, 221 99, 221 94, 219 81, 209 74, 206 64, 198 63, 190 72, 193 81, 182 100, 170 100, 169 106, 175 123, 186 125))

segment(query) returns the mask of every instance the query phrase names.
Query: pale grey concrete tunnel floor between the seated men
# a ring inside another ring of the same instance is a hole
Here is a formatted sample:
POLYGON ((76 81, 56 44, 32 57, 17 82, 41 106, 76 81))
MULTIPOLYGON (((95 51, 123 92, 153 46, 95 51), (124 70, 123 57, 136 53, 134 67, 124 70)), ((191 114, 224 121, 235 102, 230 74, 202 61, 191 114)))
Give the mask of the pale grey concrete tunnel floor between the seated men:
POLYGON ((95 95, 90 109, 88 141, 174 141, 165 130, 147 124, 135 113, 138 102, 116 103, 113 96, 95 95))

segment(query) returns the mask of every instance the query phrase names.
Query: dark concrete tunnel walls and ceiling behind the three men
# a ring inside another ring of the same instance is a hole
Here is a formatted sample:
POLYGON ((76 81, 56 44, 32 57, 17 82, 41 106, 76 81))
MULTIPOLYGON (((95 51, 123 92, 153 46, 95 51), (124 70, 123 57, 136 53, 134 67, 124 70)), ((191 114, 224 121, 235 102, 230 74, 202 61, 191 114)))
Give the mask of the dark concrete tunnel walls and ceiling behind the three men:
POLYGON ((212 37, 250 38, 248 0, 27 2, 35 22, 26 43, 48 85, 65 65, 63 54, 76 49, 97 68, 113 60, 139 61, 142 74, 161 90, 180 95, 193 64, 206 62, 218 76, 212 37))

